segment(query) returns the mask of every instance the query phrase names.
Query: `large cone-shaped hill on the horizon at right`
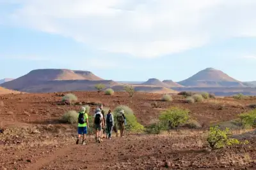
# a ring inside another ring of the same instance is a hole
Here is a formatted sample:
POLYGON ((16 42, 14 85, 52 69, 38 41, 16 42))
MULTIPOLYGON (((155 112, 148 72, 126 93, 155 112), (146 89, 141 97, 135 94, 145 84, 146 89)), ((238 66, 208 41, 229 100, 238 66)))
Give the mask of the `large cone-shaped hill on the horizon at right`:
POLYGON ((241 81, 213 68, 199 71, 190 78, 177 83, 186 87, 246 87, 241 81))

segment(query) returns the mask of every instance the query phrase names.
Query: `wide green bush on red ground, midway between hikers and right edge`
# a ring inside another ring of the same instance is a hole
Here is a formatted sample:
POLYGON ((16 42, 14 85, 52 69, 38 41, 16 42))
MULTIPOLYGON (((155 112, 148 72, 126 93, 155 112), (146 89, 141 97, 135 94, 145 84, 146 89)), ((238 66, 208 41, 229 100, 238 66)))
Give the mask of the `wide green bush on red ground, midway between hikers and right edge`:
POLYGON ((162 111, 159 116, 161 125, 167 126, 167 129, 179 127, 180 124, 186 123, 188 119, 189 110, 183 110, 176 107, 162 111))

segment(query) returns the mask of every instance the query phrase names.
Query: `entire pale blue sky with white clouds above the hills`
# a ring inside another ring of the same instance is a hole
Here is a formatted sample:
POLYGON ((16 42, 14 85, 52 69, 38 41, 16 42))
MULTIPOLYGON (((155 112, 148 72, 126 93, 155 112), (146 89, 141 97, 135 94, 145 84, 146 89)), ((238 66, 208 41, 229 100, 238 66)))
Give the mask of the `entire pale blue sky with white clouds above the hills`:
POLYGON ((207 67, 256 80, 255 0, 0 0, 0 79, 81 69, 181 81, 207 67))

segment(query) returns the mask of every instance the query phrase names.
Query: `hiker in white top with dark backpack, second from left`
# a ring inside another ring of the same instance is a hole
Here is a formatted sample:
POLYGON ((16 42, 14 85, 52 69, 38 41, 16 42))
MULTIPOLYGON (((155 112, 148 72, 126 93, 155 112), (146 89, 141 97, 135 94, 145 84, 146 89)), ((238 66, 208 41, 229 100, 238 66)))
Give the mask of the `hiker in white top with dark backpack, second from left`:
POLYGON ((97 108, 96 113, 94 115, 93 122, 94 122, 94 128, 95 128, 95 140, 100 143, 102 127, 105 126, 104 117, 101 113, 100 108, 97 108))

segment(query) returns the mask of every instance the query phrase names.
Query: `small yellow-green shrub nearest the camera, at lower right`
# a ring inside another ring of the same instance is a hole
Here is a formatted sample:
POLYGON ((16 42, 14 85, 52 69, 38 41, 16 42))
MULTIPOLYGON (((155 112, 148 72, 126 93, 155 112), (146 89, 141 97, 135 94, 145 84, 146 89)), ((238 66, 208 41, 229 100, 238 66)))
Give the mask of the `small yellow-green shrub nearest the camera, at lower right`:
POLYGON ((230 130, 226 128, 221 131, 220 127, 210 127, 207 142, 212 149, 224 148, 225 146, 239 144, 238 139, 230 138, 232 136, 230 130))

